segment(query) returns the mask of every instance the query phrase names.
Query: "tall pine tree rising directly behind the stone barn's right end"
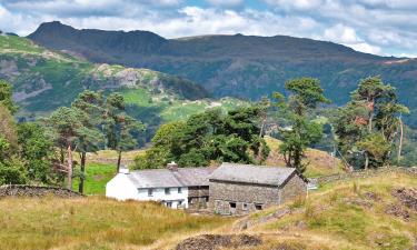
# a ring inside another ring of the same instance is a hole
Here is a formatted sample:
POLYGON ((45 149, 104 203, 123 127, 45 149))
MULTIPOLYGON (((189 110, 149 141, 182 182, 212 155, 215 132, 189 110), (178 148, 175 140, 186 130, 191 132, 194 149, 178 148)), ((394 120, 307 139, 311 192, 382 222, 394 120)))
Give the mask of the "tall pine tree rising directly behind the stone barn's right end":
POLYGON ((276 106, 279 114, 288 122, 280 129, 282 144, 279 152, 284 156, 287 167, 304 172, 308 163, 302 162, 308 146, 318 142, 322 137, 321 124, 309 121, 307 111, 316 109, 320 103, 329 103, 317 79, 300 78, 286 82, 289 97, 276 92, 276 106))

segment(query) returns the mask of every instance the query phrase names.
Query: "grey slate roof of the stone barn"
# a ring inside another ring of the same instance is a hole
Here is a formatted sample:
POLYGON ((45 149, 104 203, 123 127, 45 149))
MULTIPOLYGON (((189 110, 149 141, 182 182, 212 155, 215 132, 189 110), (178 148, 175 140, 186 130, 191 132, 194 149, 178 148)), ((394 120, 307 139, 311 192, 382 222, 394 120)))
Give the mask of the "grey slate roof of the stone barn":
POLYGON ((295 168, 222 163, 211 173, 209 179, 279 187, 295 171, 295 168))

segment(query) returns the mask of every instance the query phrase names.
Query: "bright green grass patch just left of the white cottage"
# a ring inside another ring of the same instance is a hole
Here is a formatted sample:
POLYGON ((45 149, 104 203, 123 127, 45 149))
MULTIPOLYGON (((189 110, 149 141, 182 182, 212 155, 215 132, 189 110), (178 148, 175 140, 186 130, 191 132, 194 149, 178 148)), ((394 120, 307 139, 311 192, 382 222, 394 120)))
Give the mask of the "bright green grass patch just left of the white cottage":
MULTIPOLYGON (((85 194, 105 194, 106 184, 116 174, 115 164, 88 163, 86 168, 85 194)), ((72 190, 78 191, 79 178, 72 183, 72 190)))

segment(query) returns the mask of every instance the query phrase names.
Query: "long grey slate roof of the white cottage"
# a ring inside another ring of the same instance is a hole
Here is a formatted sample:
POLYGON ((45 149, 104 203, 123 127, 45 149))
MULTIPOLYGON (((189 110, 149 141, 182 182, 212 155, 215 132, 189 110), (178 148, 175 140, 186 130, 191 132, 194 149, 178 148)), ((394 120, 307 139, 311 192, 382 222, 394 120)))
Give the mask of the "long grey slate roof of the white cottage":
POLYGON ((137 188, 173 188, 208 186, 211 168, 147 169, 130 172, 128 178, 137 188))

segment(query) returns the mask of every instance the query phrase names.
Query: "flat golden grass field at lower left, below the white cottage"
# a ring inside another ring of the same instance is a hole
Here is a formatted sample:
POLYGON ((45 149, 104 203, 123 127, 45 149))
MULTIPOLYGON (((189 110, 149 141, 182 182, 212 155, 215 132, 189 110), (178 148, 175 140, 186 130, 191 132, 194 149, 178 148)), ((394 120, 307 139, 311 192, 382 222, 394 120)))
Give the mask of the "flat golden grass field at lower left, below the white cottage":
POLYGON ((127 249, 230 221, 103 198, 0 200, 0 249, 127 249))

